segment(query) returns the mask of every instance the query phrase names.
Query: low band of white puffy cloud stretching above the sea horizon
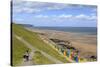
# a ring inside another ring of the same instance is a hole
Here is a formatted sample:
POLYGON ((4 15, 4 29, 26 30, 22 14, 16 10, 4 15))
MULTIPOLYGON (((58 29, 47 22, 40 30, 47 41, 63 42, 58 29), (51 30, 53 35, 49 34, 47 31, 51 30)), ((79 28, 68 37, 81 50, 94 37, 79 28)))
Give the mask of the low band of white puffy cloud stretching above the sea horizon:
POLYGON ((95 15, 85 15, 85 14, 79 14, 79 15, 71 15, 71 14, 60 14, 60 15, 36 15, 34 16, 36 18, 59 18, 59 19, 67 19, 67 20, 96 20, 97 16, 95 15))

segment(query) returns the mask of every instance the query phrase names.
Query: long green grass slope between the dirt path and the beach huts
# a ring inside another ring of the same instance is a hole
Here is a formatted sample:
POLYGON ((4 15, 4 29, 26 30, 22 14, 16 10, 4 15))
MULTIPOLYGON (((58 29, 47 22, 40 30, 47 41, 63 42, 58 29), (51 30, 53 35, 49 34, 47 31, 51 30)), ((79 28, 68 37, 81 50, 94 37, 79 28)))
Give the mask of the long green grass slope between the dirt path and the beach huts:
POLYGON ((13 33, 23 37, 27 42, 32 44, 33 47, 38 48, 49 55, 55 57, 62 62, 68 62, 63 56, 61 56, 55 49, 53 49, 50 45, 43 42, 40 37, 35 32, 28 31, 24 29, 21 25, 13 24, 13 33))

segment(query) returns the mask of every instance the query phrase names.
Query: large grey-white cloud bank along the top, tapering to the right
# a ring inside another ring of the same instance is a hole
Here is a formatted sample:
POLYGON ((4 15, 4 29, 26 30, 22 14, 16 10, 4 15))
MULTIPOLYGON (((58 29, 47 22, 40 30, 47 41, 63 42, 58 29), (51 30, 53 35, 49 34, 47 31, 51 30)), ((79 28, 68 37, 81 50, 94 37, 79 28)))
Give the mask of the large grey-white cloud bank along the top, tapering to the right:
POLYGON ((25 13, 36 13, 46 10, 61 10, 64 8, 70 8, 72 5, 59 4, 59 3, 47 3, 47 2, 32 2, 32 1, 13 1, 13 11, 25 12, 25 13))

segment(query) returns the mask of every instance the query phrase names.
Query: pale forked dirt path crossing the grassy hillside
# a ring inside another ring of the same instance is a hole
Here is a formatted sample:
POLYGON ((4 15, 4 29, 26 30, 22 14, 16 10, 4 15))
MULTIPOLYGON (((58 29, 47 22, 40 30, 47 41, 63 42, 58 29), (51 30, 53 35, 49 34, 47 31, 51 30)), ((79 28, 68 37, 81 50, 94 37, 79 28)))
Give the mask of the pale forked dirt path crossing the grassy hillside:
POLYGON ((53 61, 54 63, 59 63, 59 64, 60 64, 60 63, 63 63, 63 62, 61 62, 60 60, 58 60, 58 59, 52 57, 51 55, 49 55, 49 54, 47 54, 47 53, 45 53, 45 52, 43 52, 43 51, 41 51, 41 50, 39 50, 39 49, 34 48, 30 43, 28 43, 28 42, 27 42, 26 40, 24 40, 22 37, 19 37, 19 36, 17 36, 17 35, 15 35, 15 37, 16 37, 18 40, 20 40, 21 42, 23 42, 28 48, 30 48, 30 49, 32 50, 32 52, 30 53, 30 56, 31 56, 30 61, 25 62, 24 59, 23 59, 21 65, 24 65, 24 66, 25 66, 25 65, 34 65, 34 63, 33 63, 33 61, 32 61, 32 57, 33 57, 35 51, 40 51, 45 57, 47 57, 49 60, 53 61))

